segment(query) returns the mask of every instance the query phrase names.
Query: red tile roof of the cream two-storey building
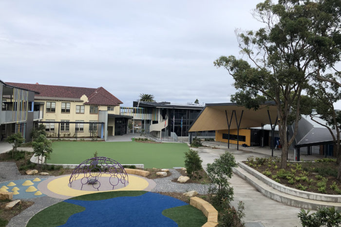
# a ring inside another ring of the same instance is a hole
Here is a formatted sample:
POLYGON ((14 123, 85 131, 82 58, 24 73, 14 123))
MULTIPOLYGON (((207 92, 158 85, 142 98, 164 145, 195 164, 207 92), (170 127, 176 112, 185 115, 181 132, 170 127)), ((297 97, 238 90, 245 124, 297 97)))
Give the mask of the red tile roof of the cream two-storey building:
POLYGON ((118 106, 123 102, 105 90, 103 87, 99 88, 80 88, 69 86, 55 86, 55 85, 43 85, 43 84, 25 84, 25 83, 12 83, 6 82, 6 84, 36 91, 43 97, 60 97, 60 98, 80 98, 82 95, 88 97, 86 105, 103 105, 103 106, 118 106))

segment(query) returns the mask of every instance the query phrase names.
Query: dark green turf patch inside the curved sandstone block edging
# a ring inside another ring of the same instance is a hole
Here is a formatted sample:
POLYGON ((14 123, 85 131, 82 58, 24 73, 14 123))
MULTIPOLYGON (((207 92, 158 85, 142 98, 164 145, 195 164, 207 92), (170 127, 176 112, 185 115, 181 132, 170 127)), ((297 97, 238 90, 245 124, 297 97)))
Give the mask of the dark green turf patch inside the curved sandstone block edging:
POLYGON ((162 214, 176 222, 179 227, 199 227, 207 222, 203 212, 191 205, 165 209, 162 214))

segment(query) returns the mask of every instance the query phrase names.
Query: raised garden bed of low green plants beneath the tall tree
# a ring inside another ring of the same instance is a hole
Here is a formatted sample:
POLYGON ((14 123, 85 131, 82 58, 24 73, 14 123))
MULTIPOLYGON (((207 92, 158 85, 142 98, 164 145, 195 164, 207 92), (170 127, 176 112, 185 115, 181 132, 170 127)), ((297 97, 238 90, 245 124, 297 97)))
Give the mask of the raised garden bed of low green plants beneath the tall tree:
POLYGON ((288 162, 285 170, 280 169, 280 161, 277 157, 249 157, 243 163, 290 188, 322 194, 341 194, 341 182, 336 179, 338 165, 335 159, 288 162))

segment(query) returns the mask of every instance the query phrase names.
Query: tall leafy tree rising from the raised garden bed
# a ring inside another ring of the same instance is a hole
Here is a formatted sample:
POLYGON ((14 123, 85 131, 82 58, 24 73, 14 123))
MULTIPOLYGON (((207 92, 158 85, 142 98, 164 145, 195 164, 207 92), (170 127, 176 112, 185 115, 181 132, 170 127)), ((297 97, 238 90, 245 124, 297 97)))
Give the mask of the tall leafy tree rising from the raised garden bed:
POLYGON ((340 5, 340 0, 279 0, 278 4, 265 0, 254 11, 254 18, 265 28, 237 32, 239 48, 248 61, 222 56, 214 62, 235 80, 239 91, 232 101, 254 109, 265 100, 262 95, 275 102, 282 169, 297 134, 301 93, 308 79, 340 61, 340 5), (290 113, 293 107, 295 113, 290 113), (287 140, 291 123, 295 128, 287 140))

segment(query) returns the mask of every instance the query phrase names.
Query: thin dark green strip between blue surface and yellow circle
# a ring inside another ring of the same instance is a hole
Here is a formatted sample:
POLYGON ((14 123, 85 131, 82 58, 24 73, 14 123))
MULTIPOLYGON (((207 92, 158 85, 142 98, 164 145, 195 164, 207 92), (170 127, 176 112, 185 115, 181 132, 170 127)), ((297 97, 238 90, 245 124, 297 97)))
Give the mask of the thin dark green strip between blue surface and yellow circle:
POLYGON ((122 197, 122 196, 140 196, 146 192, 147 191, 106 191, 106 192, 92 193, 92 194, 86 194, 86 195, 79 195, 71 199, 83 200, 83 201, 95 201, 95 200, 111 199, 111 198, 122 197))

